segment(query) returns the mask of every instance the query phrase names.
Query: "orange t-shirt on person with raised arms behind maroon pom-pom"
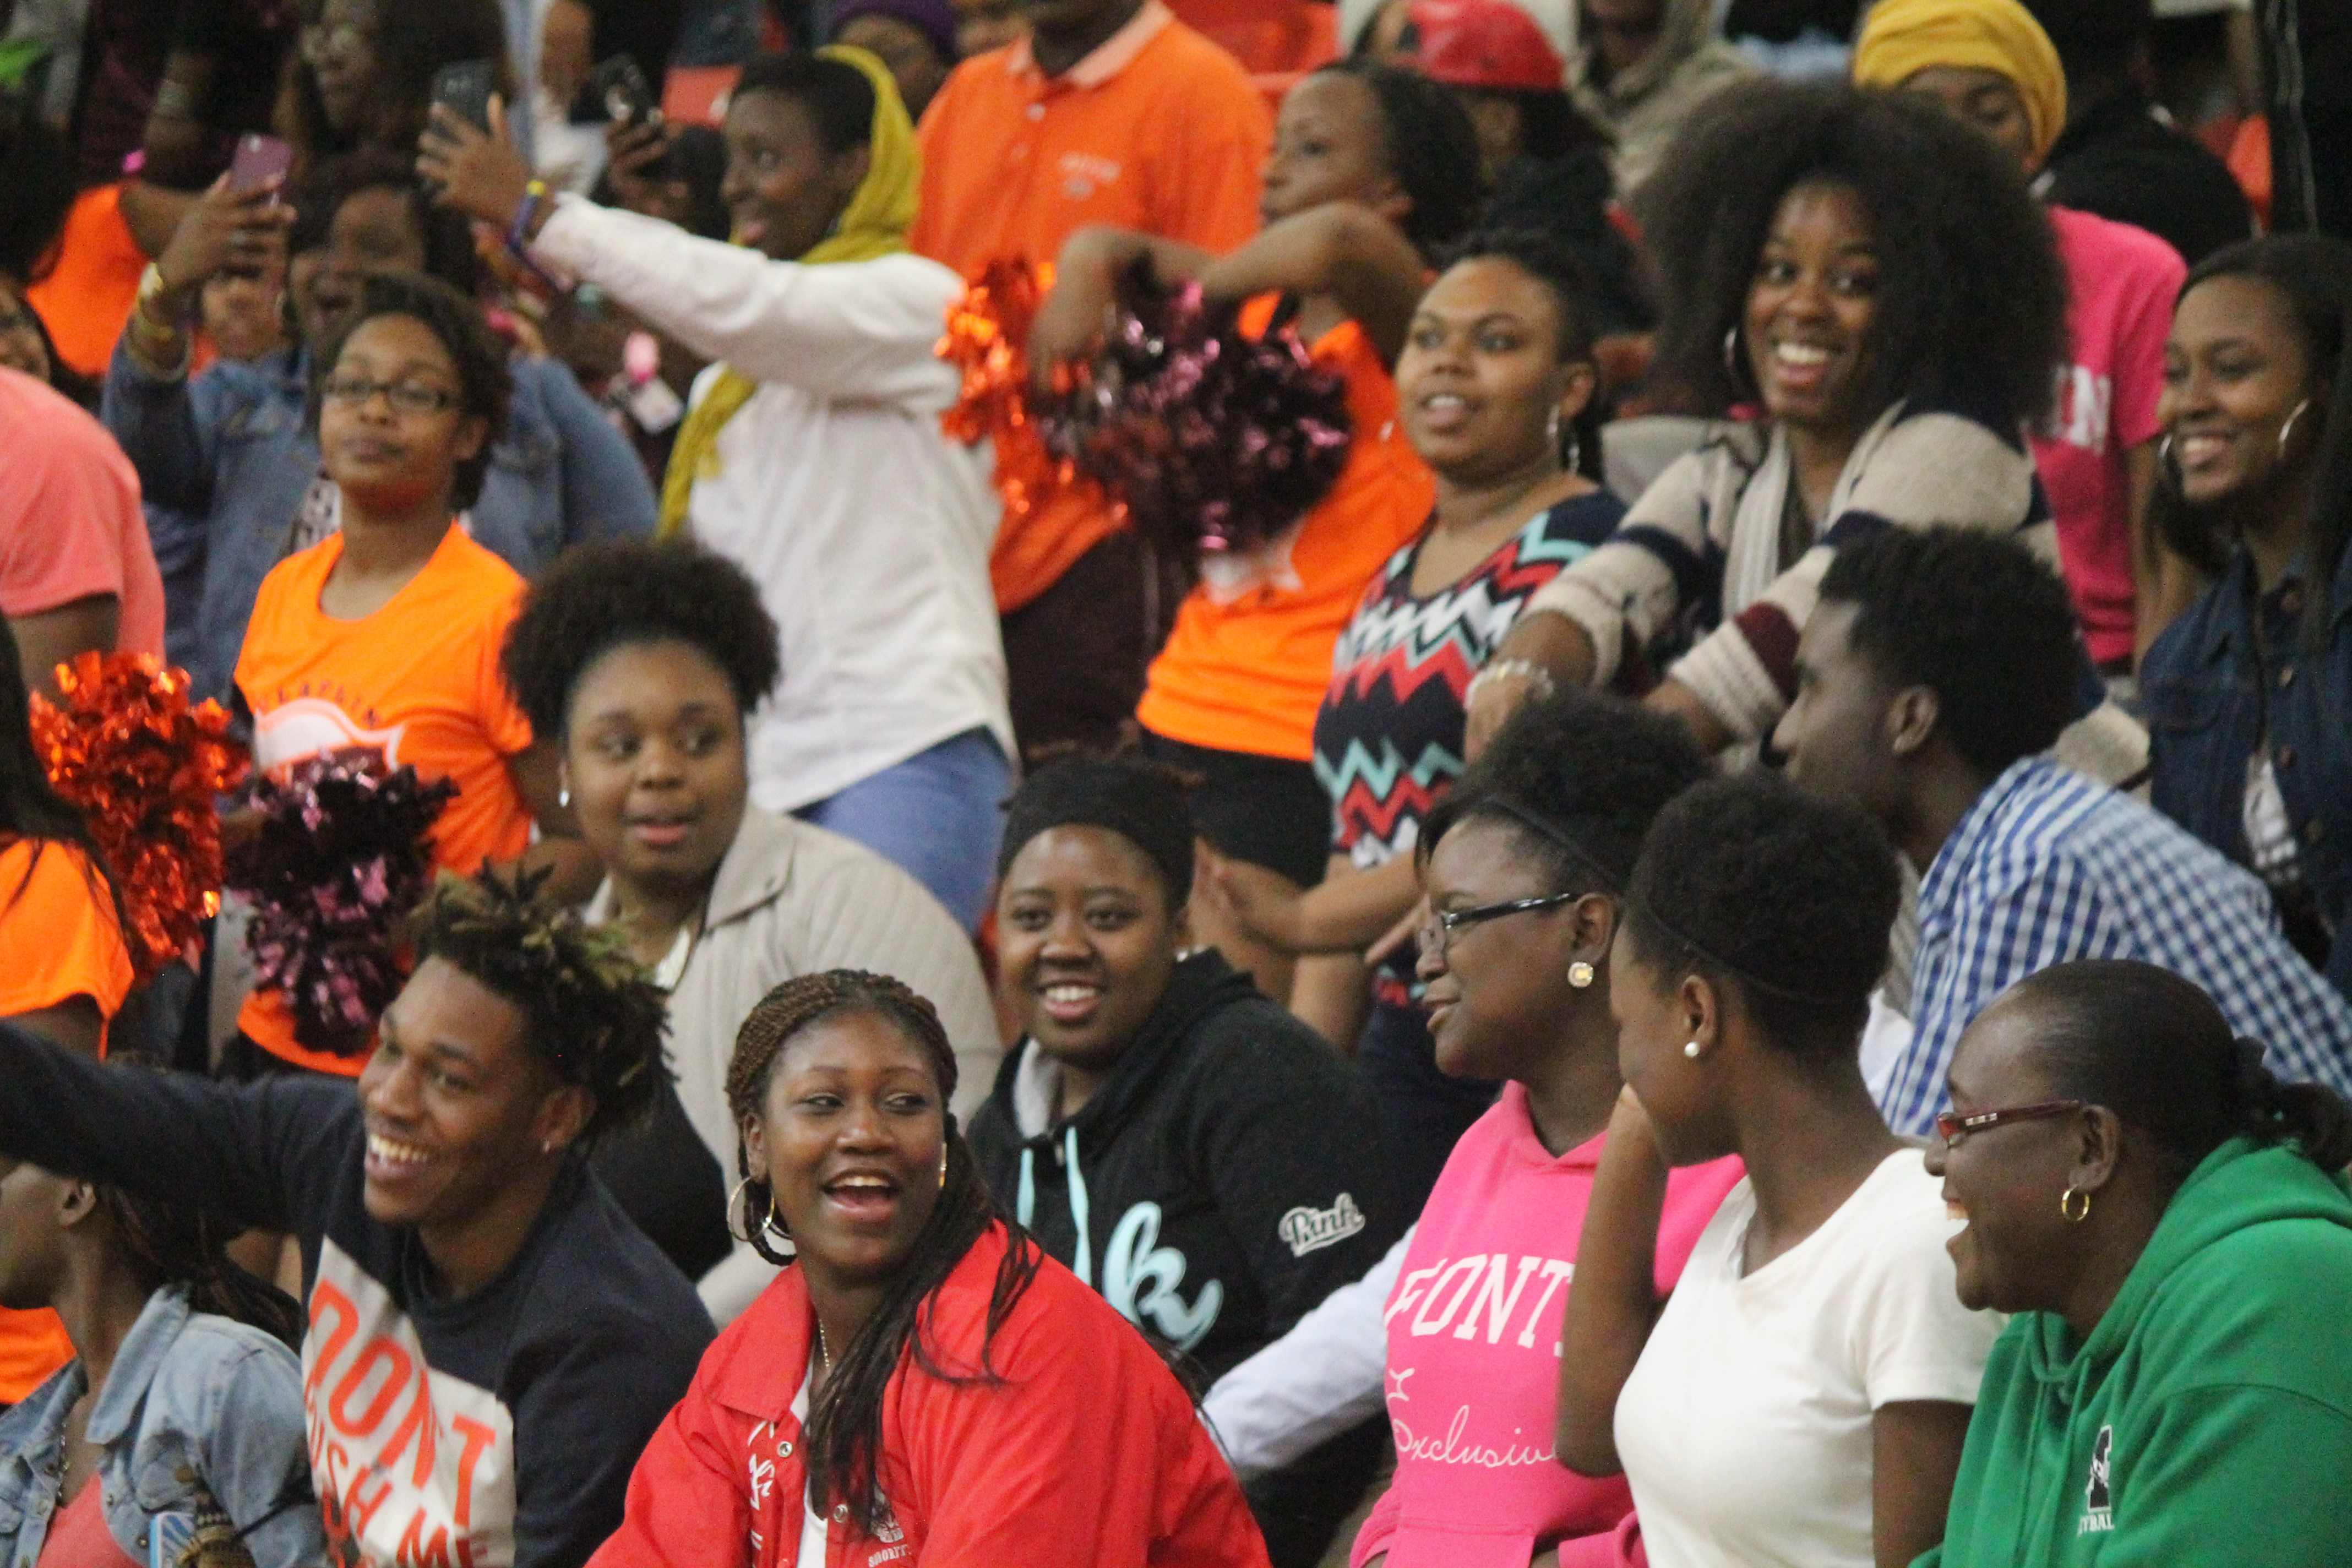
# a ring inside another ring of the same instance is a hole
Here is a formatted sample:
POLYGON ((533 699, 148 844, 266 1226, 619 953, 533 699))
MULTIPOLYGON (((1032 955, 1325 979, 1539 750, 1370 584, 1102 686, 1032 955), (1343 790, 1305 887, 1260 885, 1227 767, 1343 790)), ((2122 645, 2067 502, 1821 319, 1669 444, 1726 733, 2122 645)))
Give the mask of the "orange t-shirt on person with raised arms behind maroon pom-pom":
MULTIPOLYGON (((1272 308, 1272 299, 1249 301, 1242 329, 1265 331, 1272 308)), ((1223 604, 1202 583, 1176 611, 1136 705, 1136 722, 1169 741, 1312 762, 1331 646, 1364 583, 1437 505, 1437 480, 1397 425, 1397 383, 1364 329, 1341 322, 1312 355, 1348 378, 1348 465, 1291 536, 1296 583, 1258 583, 1223 604)))

